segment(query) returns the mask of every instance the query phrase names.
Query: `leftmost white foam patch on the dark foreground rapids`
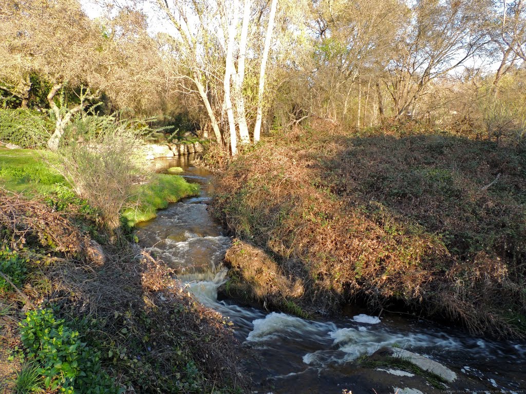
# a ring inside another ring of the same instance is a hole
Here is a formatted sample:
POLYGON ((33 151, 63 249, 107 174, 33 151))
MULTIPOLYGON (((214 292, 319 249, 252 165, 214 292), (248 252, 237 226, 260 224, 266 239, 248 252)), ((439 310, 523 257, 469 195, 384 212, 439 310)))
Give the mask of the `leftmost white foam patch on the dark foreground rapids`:
POLYGON ((249 342, 265 341, 278 335, 291 339, 323 338, 330 330, 336 329, 333 323, 312 322, 279 312, 269 313, 265 318, 254 320, 252 324, 254 329, 247 336, 249 342))

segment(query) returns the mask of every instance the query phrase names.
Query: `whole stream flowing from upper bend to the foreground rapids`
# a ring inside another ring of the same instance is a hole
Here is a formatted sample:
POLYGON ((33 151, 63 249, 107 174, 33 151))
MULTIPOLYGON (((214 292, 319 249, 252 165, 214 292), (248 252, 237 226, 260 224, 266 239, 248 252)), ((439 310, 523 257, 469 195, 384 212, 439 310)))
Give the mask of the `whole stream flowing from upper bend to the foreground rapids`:
POLYGON ((422 378, 360 368, 352 362, 383 346, 401 347, 447 365, 459 376, 448 384, 449 390, 526 393, 523 343, 474 338, 458 329, 399 315, 377 318, 357 312, 349 318, 313 321, 218 300, 217 289, 227 273, 221 262, 231 240, 207 210, 213 192, 211 173, 193 167, 191 161, 184 157, 155 163, 158 171, 183 168, 180 175, 199 183, 201 194, 140 223, 137 235, 141 245, 174 268, 203 304, 234 323, 237 338, 252 355, 244 364, 254 379, 255 393, 340 394, 347 389, 381 394, 407 387, 440 392, 422 378))

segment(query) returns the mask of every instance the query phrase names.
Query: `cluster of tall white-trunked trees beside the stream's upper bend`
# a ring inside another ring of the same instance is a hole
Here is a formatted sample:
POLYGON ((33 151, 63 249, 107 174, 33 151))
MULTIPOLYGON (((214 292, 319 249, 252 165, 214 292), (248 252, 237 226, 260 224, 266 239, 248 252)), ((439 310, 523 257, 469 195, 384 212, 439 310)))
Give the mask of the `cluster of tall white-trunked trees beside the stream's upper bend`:
POLYGON ((260 9, 251 0, 157 0, 156 4, 173 28, 169 36, 164 35, 164 53, 173 58, 168 64, 178 88, 200 97, 216 140, 221 143, 228 135, 235 155, 238 135, 242 144, 250 142, 248 123, 254 117, 259 119, 254 127, 255 140, 259 139, 277 1, 270 7, 265 35, 258 33, 266 4, 260 9), (245 76, 247 72, 253 76, 256 69, 260 82, 258 92, 252 94, 254 86, 247 86, 245 76), (247 108, 247 104, 254 107, 254 97, 256 113, 247 108), (224 118, 225 126, 219 121, 224 118))

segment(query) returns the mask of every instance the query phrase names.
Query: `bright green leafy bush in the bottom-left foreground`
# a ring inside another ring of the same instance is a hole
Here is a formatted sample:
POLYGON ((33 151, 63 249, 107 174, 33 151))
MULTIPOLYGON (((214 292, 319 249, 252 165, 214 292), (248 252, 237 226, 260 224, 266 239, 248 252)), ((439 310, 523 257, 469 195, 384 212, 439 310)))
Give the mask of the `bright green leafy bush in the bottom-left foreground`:
POLYGON ((41 365, 39 373, 47 389, 67 394, 119 392, 101 368, 100 352, 82 343, 78 331, 57 320, 52 309, 26 312, 20 331, 28 358, 41 365))

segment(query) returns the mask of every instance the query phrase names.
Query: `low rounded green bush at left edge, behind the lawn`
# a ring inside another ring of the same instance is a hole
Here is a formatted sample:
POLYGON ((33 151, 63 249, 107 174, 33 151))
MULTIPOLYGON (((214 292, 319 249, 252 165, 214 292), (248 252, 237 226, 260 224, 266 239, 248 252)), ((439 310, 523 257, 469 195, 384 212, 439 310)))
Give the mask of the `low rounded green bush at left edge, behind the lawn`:
POLYGON ((0 140, 23 148, 37 147, 47 141, 53 122, 43 113, 28 109, 0 109, 0 140))

